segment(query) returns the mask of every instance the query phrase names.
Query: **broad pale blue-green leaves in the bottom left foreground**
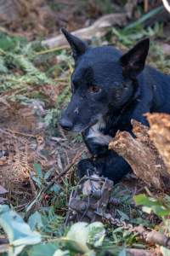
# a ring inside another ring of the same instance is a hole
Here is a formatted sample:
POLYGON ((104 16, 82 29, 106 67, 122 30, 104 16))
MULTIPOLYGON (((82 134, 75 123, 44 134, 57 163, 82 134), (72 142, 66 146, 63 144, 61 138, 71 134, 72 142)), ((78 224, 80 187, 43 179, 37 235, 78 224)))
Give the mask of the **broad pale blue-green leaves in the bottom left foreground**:
POLYGON ((76 256, 77 253, 81 253, 82 255, 95 256, 104 252, 101 247, 105 239, 104 224, 78 222, 71 225, 65 236, 61 236, 61 234, 56 236, 55 233, 53 236, 51 236, 52 234, 44 236, 42 230, 45 222, 42 214, 35 212, 26 224, 8 206, 0 206, 0 224, 9 241, 8 255, 76 256), (38 232, 35 231, 37 229, 38 232))

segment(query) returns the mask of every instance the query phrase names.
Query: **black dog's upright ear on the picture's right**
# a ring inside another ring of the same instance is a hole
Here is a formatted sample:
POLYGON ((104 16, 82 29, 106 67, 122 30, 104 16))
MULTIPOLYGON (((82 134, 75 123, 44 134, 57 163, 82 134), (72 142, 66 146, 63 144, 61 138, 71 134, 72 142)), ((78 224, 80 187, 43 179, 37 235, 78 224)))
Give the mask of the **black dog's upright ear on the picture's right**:
POLYGON ((143 69, 145 59, 150 48, 150 39, 145 38, 136 44, 133 49, 127 51, 122 55, 120 62, 122 65, 122 72, 125 76, 135 78, 143 69))

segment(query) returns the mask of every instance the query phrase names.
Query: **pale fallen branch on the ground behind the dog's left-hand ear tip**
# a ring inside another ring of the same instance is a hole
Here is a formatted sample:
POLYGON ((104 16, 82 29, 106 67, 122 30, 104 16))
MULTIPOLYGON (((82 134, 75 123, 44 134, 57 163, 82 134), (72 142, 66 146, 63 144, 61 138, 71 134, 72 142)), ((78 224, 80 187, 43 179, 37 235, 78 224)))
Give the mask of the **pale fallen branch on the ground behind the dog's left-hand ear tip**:
MULTIPOLYGON (((82 38, 83 40, 88 40, 94 37, 102 37, 107 32, 107 28, 118 25, 123 26, 127 21, 126 13, 104 15, 103 17, 96 20, 93 25, 84 27, 75 32, 72 32, 74 36, 82 38)), ((67 42, 63 35, 59 35, 55 38, 49 38, 42 41, 43 46, 48 46, 48 48, 67 46, 67 42)))

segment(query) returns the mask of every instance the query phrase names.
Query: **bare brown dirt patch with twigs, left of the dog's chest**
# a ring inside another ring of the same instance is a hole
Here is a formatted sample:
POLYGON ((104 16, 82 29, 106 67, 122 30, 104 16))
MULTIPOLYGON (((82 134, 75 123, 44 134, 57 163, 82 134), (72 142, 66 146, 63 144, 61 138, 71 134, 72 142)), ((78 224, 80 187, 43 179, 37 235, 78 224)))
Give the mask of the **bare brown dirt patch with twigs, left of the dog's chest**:
MULTIPOLYGON (((15 206, 26 204, 35 195, 31 176, 33 165, 39 163, 42 172, 52 169, 52 177, 71 163, 82 143, 56 127, 56 134, 47 134, 46 127, 34 114, 34 105, 0 103, 0 183, 8 190, 8 201, 15 206)), ((74 169, 72 169, 72 172, 74 169)), ((71 175, 71 174, 70 174, 71 175)))

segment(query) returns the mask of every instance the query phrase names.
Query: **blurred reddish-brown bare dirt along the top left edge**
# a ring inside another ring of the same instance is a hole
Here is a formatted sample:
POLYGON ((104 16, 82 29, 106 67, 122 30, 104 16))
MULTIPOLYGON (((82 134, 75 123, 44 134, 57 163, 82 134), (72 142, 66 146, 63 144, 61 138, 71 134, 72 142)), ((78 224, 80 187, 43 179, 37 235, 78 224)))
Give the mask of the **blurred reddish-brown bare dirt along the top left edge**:
POLYGON ((101 3, 91 0, 20 0, 15 7, 15 18, 9 20, 8 14, 3 15, 1 23, 9 34, 24 36, 29 40, 55 36, 61 27, 74 31, 88 26, 105 13, 101 3))

